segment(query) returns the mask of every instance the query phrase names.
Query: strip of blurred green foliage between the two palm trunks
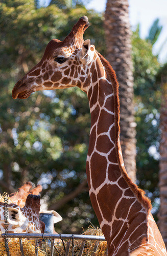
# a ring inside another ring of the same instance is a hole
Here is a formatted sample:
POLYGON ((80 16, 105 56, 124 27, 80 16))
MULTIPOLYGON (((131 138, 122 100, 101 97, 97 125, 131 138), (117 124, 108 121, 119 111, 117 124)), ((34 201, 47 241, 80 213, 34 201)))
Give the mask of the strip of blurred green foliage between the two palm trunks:
MULTIPOLYGON (((157 23, 153 24, 153 27, 157 23)), ((152 41, 155 42, 157 34, 152 41)), ((160 69, 157 57, 152 53, 151 40, 141 39, 139 25, 132 36, 133 75, 135 94, 137 184, 146 190, 157 212, 159 140, 160 140, 160 86, 156 76, 160 69)))

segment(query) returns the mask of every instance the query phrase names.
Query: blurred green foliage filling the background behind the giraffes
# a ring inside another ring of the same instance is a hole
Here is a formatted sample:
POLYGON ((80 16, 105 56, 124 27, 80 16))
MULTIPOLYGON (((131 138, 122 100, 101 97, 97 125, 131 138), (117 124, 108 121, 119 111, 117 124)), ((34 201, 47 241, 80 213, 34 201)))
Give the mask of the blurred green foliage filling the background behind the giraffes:
MULTIPOLYGON (((86 10, 82 1, 3 0, 0 3, 0 192, 11 193, 27 180, 43 185, 42 203, 52 207, 70 195, 86 178, 90 114, 80 89, 33 93, 12 100, 15 82, 42 57, 47 43, 63 40, 78 18, 87 15, 85 39, 105 56, 103 15, 86 10), (63 8, 59 8, 64 4, 63 8)), ((156 34, 156 33, 155 33, 156 34)), ((154 40, 153 40, 154 41, 154 40)), ((152 42, 153 42, 152 41, 152 42)), ((157 207, 160 91, 155 82, 159 69, 152 43, 133 33, 135 109, 137 123, 137 179, 157 207), (152 154, 156 148, 156 154, 152 154), (152 150, 151 150, 152 149, 152 150)), ((63 221, 57 232, 80 233, 98 225, 88 187, 58 212, 63 221)))

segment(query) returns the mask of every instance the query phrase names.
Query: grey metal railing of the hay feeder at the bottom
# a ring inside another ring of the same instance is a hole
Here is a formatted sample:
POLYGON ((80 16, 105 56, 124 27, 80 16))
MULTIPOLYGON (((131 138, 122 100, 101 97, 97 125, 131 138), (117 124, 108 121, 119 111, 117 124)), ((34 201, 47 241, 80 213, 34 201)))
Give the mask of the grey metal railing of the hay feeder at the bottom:
MULTIPOLYGON (((6 238, 6 234, 1 234, 2 238, 6 238)), ((33 238, 35 239, 35 254, 38 256, 38 239, 41 240, 46 240, 49 239, 51 241, 51 252, 50 252, 50 256, 54 255, 54 248, 56 249, 57 253, 59 256, 62 256, 59 251, 57 250, 56 246, 54 245, 55 243, 55 239, 61 239, 63 246, 64 246, 64 256, 68 256, 69 255, 69 247, 70 247, 70 243, 72 245, 72 254, 74 256, 74 240, 83 240, 82 241, 82 245, 79 251, 79 256, 83 255, 83 251, 84 251, 84 247, 85 247, 85 243, 86 240, 94 240, 96 241, 96 244, 92 250, 91 255, 95 255, 95 252, 98 249, 99 243, 100 241, 106 241, 105 238, 103 236, 89 236, 89 235, 85 235, 85 234, 51 234, 51 233, 43 233, 43 234, 37 234, 37 233, 8 233, 8 238, 18 238, 19 239, 19 246, 20 246, 20 252, 22 254, 22 256, 25 256, 23 253, 23 246, 22 246, 22 238, 33 238), (64 241, 63 239, 67 239, 67 244, 66 244, 66 248, 64 245, 64 241)), ((6 240, 7 241, 7 240, 6 240)), ((9 251, 9 247, 7 250, 7 255, 10 256, 10 251, 9 251)), ((107 255, 107 249, 106 249, 106 255, 107 255)))

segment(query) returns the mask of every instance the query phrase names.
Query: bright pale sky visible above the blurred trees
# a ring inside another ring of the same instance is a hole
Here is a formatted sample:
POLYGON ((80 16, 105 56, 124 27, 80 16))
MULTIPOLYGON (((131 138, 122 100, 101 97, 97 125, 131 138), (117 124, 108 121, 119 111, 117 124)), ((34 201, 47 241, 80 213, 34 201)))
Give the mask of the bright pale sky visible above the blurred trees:
MULTIPOLYGON (((98 12, 105 11, 107 0, 90 0, 87 9, 94 9, 98 12)), ((160 51, 159 61, 167 62, 167 0, 129 0, 129 18, 132 30, 139 23, 140 36, 145 38, 149 28, 156 18, 159 18, 160 25, 163 26, 159 39, 157 40, 153 52, 160 51), (162 47, 162 44, 165 45, 162 47)))

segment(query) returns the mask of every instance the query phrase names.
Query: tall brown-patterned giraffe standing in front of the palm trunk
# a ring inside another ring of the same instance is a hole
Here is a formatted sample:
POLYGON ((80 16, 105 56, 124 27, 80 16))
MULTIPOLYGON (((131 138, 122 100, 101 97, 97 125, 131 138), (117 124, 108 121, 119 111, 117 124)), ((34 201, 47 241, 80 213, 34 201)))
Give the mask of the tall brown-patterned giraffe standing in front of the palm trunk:
POLYGON ((92 206, 108 255, 167 255, 151 202, 128 177, 120 146, 118 82, 109 62, 83 40, 82 16, 63 41, 53 39, 41 61, 14 86, 13 99, 39 90, 78 86, 89 99, 91 127, 86 173, 92 206))

